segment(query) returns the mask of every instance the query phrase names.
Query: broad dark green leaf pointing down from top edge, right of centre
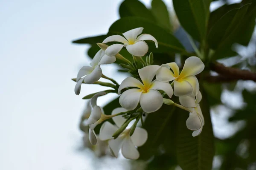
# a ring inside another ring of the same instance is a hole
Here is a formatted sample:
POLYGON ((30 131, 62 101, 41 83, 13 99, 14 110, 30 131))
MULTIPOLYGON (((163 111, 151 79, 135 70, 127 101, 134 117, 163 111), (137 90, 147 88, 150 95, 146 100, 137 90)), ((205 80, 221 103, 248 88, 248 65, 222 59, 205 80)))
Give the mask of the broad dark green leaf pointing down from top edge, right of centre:
POLYGON ((199 42, 204 40, 212 0, 173 0, 181 26, 199 42))

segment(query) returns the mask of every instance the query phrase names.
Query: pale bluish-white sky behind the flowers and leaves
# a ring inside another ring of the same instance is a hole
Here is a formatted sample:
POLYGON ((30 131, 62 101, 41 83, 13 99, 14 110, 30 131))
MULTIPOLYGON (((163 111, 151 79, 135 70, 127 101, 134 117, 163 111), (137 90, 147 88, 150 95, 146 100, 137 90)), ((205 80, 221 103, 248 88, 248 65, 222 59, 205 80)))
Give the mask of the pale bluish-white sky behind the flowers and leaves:
POLYGON ((76 151, 81 98, 105 88, 83 85, 75 95, 71 78, 90 60, 88 46, 71 40, 107 33, 121 1, 0 1, 0 170, 93 170, 94 157, 76 151))

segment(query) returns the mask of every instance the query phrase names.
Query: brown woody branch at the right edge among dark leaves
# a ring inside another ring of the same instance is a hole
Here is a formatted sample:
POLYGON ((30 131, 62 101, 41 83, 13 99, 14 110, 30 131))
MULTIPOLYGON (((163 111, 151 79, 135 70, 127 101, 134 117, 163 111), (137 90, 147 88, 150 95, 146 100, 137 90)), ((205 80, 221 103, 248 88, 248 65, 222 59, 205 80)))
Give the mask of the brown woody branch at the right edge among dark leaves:
POLYGON ((215 62, 210 64, 212 71, 220 74, 221 77, 218 79, 227 79, 227 80, 253 80, 256 82, 256 73, 248 70, 240 70, 238 68, 226 67, 221 63, 215 62))

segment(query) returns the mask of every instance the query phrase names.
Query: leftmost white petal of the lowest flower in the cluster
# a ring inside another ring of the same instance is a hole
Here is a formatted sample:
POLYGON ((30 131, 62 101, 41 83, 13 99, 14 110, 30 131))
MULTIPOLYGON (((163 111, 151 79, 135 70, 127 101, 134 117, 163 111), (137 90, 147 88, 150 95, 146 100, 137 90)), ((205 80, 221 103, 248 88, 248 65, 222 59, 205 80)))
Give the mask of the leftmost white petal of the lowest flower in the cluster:
POLYGON ((116 130, 118 128, 115 125, 112 125, 110 122, 104 122, 99 130, 99 139, 102 141, 111 139, 116 130))

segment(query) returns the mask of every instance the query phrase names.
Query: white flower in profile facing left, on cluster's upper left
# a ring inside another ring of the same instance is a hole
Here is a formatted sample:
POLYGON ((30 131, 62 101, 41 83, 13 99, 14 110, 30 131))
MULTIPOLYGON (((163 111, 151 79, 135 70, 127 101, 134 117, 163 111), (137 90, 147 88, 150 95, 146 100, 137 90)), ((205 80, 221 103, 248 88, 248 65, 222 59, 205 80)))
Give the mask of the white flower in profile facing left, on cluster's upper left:
POLYGON ((83 66, 76 77, 76 86, 75 93, 76 95, 80 94, 81 84, 84 82, 86 84, 92 84, 102 77, 102 69, 100 68, 101 64, 111 64, 116 61, 115 56, 108 56, 101 49, 96 55, 93 57, 92 62, 90 62, 90 66, 83 66))

